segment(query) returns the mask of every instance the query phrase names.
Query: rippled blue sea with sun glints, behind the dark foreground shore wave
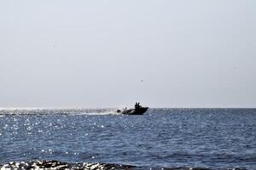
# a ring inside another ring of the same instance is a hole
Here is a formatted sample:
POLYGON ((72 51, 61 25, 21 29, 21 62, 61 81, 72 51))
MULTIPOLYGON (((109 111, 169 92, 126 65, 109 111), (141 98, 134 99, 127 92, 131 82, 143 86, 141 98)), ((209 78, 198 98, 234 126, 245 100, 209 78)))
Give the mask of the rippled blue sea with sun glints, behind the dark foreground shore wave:
POLYGON ((256 109, 149 109, 143 116, 114 109, 1 110, 0 167, 43 160, 256 169, 256 109))

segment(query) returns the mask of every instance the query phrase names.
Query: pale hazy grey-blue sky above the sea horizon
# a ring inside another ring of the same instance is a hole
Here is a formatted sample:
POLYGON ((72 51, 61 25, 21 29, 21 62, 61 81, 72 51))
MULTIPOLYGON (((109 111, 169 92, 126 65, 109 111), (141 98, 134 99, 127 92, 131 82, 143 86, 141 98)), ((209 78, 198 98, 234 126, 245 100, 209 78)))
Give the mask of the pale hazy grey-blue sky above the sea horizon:
POLYGON ((0 107, 256 107, 254 0, 0 0, 0 107))

